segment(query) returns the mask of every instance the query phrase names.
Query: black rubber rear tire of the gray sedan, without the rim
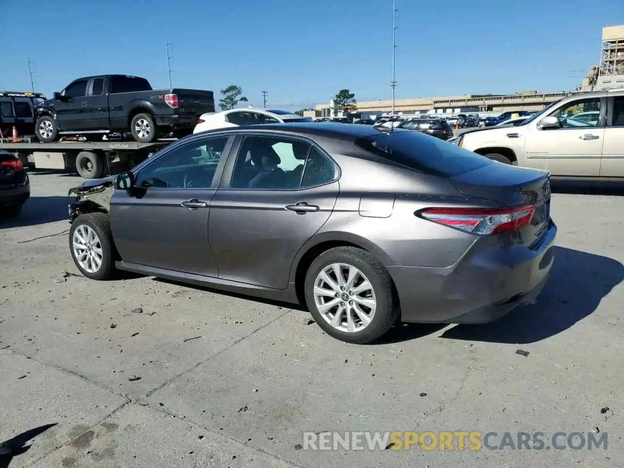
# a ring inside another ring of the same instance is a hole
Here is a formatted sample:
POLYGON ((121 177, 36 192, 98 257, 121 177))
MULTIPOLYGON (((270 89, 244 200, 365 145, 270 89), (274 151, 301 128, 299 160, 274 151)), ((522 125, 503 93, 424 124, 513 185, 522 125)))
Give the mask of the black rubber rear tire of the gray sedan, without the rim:
POLYGON ((385 334, 401 316, 399 303, 396 300, 392 280, 388 270, 371 253, 361 248, 341 246, 331 248, 319 255, 312 262, 305 278, 305 300, 308 310, 316 323, 325 333, 347 343, 364 344, 374 341, 385 334), (332 263, 345 263, 358 268, 373 286, 376 298, 376 310, 371 323, 365 328, 346 332, 329 324, 314 303, 314 281, 316 276, 332 263))

